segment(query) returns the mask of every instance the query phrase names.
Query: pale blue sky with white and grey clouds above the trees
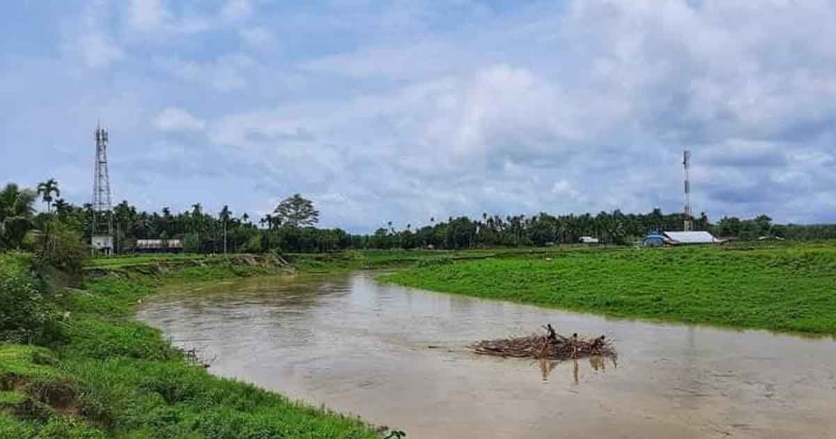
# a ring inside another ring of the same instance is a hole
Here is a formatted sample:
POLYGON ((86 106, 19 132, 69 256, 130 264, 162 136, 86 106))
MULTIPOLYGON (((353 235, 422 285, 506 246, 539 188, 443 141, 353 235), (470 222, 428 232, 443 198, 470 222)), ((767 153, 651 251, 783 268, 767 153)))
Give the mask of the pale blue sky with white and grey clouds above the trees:
POLYGON ((43 0, 0 16, 0 184, 321 225, 482 212, 836 222, 829 0, 43 0))

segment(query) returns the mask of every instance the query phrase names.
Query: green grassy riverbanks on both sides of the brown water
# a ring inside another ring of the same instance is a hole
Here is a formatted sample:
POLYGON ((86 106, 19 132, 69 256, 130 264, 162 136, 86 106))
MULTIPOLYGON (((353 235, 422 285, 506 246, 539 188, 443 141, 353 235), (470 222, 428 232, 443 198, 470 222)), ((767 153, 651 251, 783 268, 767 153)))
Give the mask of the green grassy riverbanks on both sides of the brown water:
POLYGON ((133 319, 164 287, 363 268, 595 314, 836 334, 833 243, 107 258, 85 269, 80 288, 44 280, 29 255, 2 253, 0 331, 21 344, 0 344, 0 437, 379 437, 353 417, 210 375, 133 319))

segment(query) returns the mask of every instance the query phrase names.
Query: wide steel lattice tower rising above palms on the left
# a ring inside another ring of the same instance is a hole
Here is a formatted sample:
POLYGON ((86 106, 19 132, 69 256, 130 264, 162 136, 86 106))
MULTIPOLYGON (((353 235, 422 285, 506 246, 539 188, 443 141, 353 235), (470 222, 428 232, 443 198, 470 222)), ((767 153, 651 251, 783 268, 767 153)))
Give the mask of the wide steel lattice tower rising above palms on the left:
POLYGON ((93 166, 93 218, 90 245, 93 252, 113 252, 113 205, 110 202, 110 176, 107 171, 107 130, 96 123, 96 161, 93 166))

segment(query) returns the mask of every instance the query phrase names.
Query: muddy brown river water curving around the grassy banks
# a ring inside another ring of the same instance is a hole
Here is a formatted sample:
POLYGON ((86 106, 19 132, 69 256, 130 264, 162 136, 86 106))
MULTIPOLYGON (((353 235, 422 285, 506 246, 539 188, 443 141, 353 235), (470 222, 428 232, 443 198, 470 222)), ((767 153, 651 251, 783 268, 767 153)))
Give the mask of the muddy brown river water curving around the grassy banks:
POLYGON ((375 273, 161 294, 139 319, 210 370, 411 438, 836 437, 836 341, 605 319, 401 288, 375 273), (473 355, 474 340, 607 334, 610 360, 473 355))

